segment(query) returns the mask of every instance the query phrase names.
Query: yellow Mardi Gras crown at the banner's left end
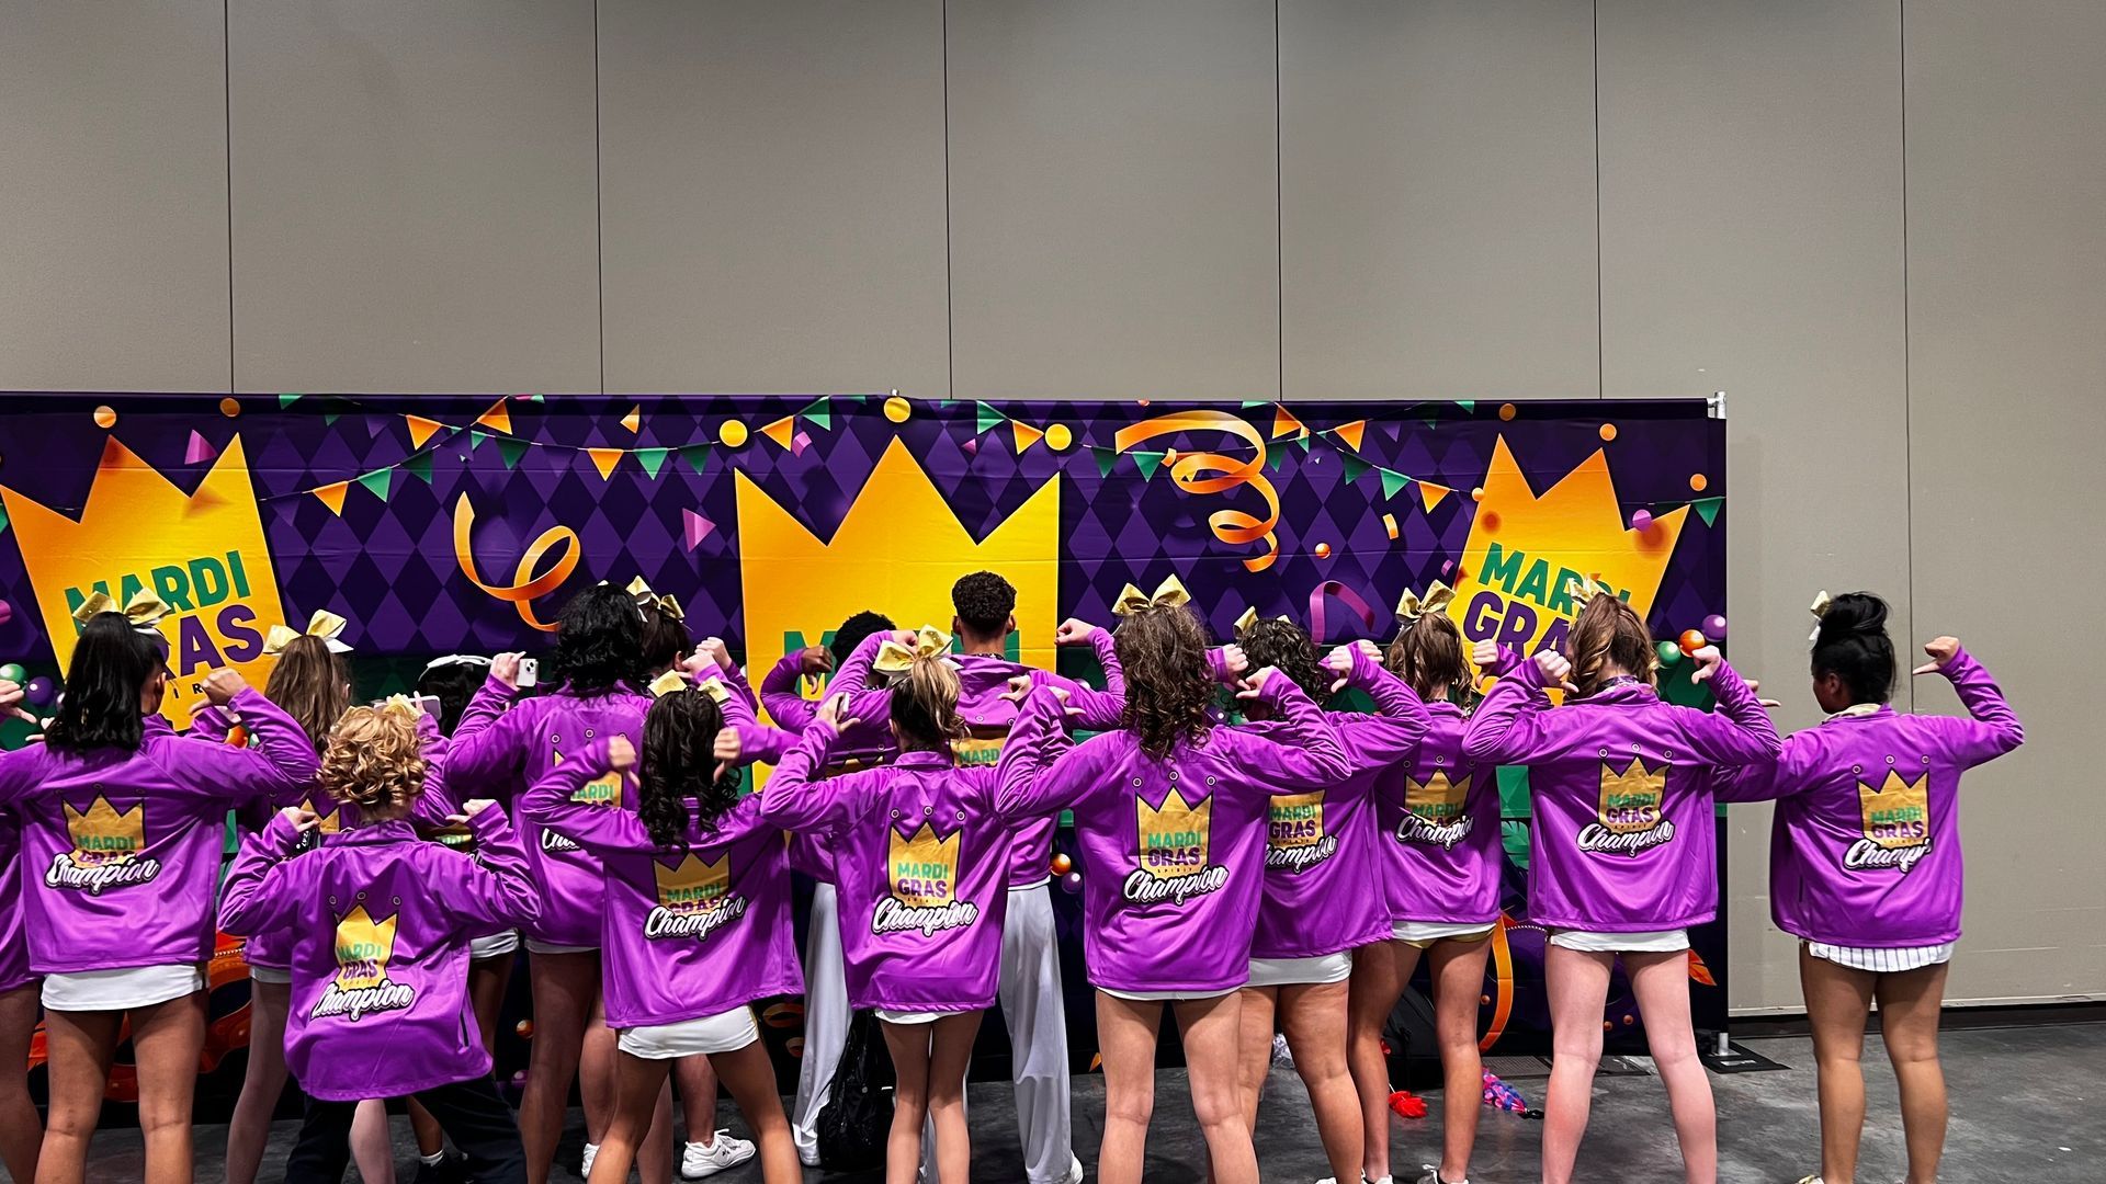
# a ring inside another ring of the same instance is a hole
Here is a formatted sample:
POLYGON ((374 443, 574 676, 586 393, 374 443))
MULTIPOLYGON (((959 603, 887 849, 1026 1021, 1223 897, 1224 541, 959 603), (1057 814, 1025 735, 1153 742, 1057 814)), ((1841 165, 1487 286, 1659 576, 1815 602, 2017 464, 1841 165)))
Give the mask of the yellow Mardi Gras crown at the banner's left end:
MULTIPOLYGON (((72 613, 88 592, 101 588, 122 605, 135 590, 147 588, 173 609, 158 626, 164 636, 175 638, 183 619, 194 617, 190 628, 196 634, 185 634, 185 643, 204 636, 221 657, 230 649, 253 653, 249 662, 227 662, 249 683, 263 685, 272 659, 246 634, 227 636, 219 628, 221 611, 232 603, 246 605, 253 621, 284 619, 240 436, 227 442, 190 495, 112 436, 78 520, 15 489, 0 487, 0 504, 21 541, 44 636, 59 666, 74 655, 80 630, 72 613)), ((179 649, 177 659, 187 649, 179 649)), ((219 666, 221 657, 211 662, 219 666)), ((179 666, 168 683, 168 714, 177 727, 202 702, 194 674, 202 670, 179 666)))

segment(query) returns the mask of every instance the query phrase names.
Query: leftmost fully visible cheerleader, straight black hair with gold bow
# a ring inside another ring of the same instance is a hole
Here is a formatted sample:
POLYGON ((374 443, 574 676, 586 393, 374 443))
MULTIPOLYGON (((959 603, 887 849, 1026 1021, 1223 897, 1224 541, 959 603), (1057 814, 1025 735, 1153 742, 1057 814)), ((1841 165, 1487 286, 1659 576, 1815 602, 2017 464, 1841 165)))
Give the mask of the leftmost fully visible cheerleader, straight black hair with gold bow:
POLYGON ((316 758, 299 725, 232 670, 206 674, 204 695, 234 706, 257 748, 179 737, 158 714, 166 643, 101 605, 107 596, 82 605, 44 744, 0 754, 0 807, 21 822, 29 969, 44 975, 51 1108, 38 1178, 84 1178, 128 1020, 145 1173, 181 1182, 225 815, 297 792, 316 758))

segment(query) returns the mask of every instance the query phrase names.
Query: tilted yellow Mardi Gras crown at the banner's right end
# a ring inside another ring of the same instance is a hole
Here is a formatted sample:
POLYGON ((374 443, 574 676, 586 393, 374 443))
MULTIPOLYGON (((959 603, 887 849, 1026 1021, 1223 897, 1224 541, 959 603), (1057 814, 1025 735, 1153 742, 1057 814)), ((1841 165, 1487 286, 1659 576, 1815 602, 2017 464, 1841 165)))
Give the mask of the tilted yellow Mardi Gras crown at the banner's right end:
POLYGON ((1554 619, 1580 611, 1567 581, 1594 577, 1628 594, 1643 617, 1687 518, 1683 506, 1655 514, 1643 531, 1628 529, 1609 478, 1609 455, 1601 449, 1537 495, 1502 436, 1485 470, 1485 497, 1470 522, 1462 577, 1447 611, 1462 624, 1485 588, 1531 605, 1537 619, 1535 634, 1521 645, 1527 651, 1554 619))

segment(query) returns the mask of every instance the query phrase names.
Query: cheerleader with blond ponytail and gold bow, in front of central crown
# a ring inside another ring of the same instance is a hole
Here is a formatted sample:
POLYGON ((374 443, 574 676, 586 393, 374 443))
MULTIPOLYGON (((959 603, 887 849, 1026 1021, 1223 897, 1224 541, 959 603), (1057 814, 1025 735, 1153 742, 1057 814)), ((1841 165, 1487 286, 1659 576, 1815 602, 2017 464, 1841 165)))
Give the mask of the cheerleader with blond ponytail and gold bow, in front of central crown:
POLYGON ((998 769, 958 767, 952 754, 965 725, 948 649, 950 636, 925 626, 912 651, 893 643, 876 657, 903 672, 891 689, 891 765, 815 780, 847 702, 830 695, 760 794, 760 817, 836 851, 849 1003, 876 1011, 897 1072, 887 1184, 914 1180, 931 1117, 941 1178, 969 1180, 965 1070, 996 999, 1009 904, 998 769))

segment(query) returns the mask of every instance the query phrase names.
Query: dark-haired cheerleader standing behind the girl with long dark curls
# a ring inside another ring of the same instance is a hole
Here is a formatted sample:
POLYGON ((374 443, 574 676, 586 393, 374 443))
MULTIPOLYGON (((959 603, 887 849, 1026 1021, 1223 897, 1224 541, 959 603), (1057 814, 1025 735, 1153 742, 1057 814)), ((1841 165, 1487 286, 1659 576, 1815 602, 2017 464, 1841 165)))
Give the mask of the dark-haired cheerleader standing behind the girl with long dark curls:
MULTIPOLYGON (((518 798, 526 786, 594 739, 611 739, 615 733, 625 735, 632 746, 642 739, 644 712, 651 708, 651 699, 638 689, 644 674, 642 624, 636 600, 621 588, 585 588, 556 624, 552 666, 562 678, 556 691, 520 699, 520 655, 499 655, 491 678, 461 714, 446 754, 453 792, 512 803, 514 826, 541 891, 539 916, 522 929, 535 1039, 520 1098, 520 1140, 533 1184, 548 1184, 554 1167, 573 1077, 579 1079, 588 1131, 604 1129, 615 1041, 598 1013, 598 860, 560 834, 543 834, 518 811, 518 798), (592 1058, 581 1064, 588 1051, 592 1058)), ((619 788, 596 792, 594 803, 598 809, 619 809, 619 788)), ((653 1173, 647 1180, 670 1178, 670 1144, 663 1165, 653 1157, 642 1169, 653 1173)))

